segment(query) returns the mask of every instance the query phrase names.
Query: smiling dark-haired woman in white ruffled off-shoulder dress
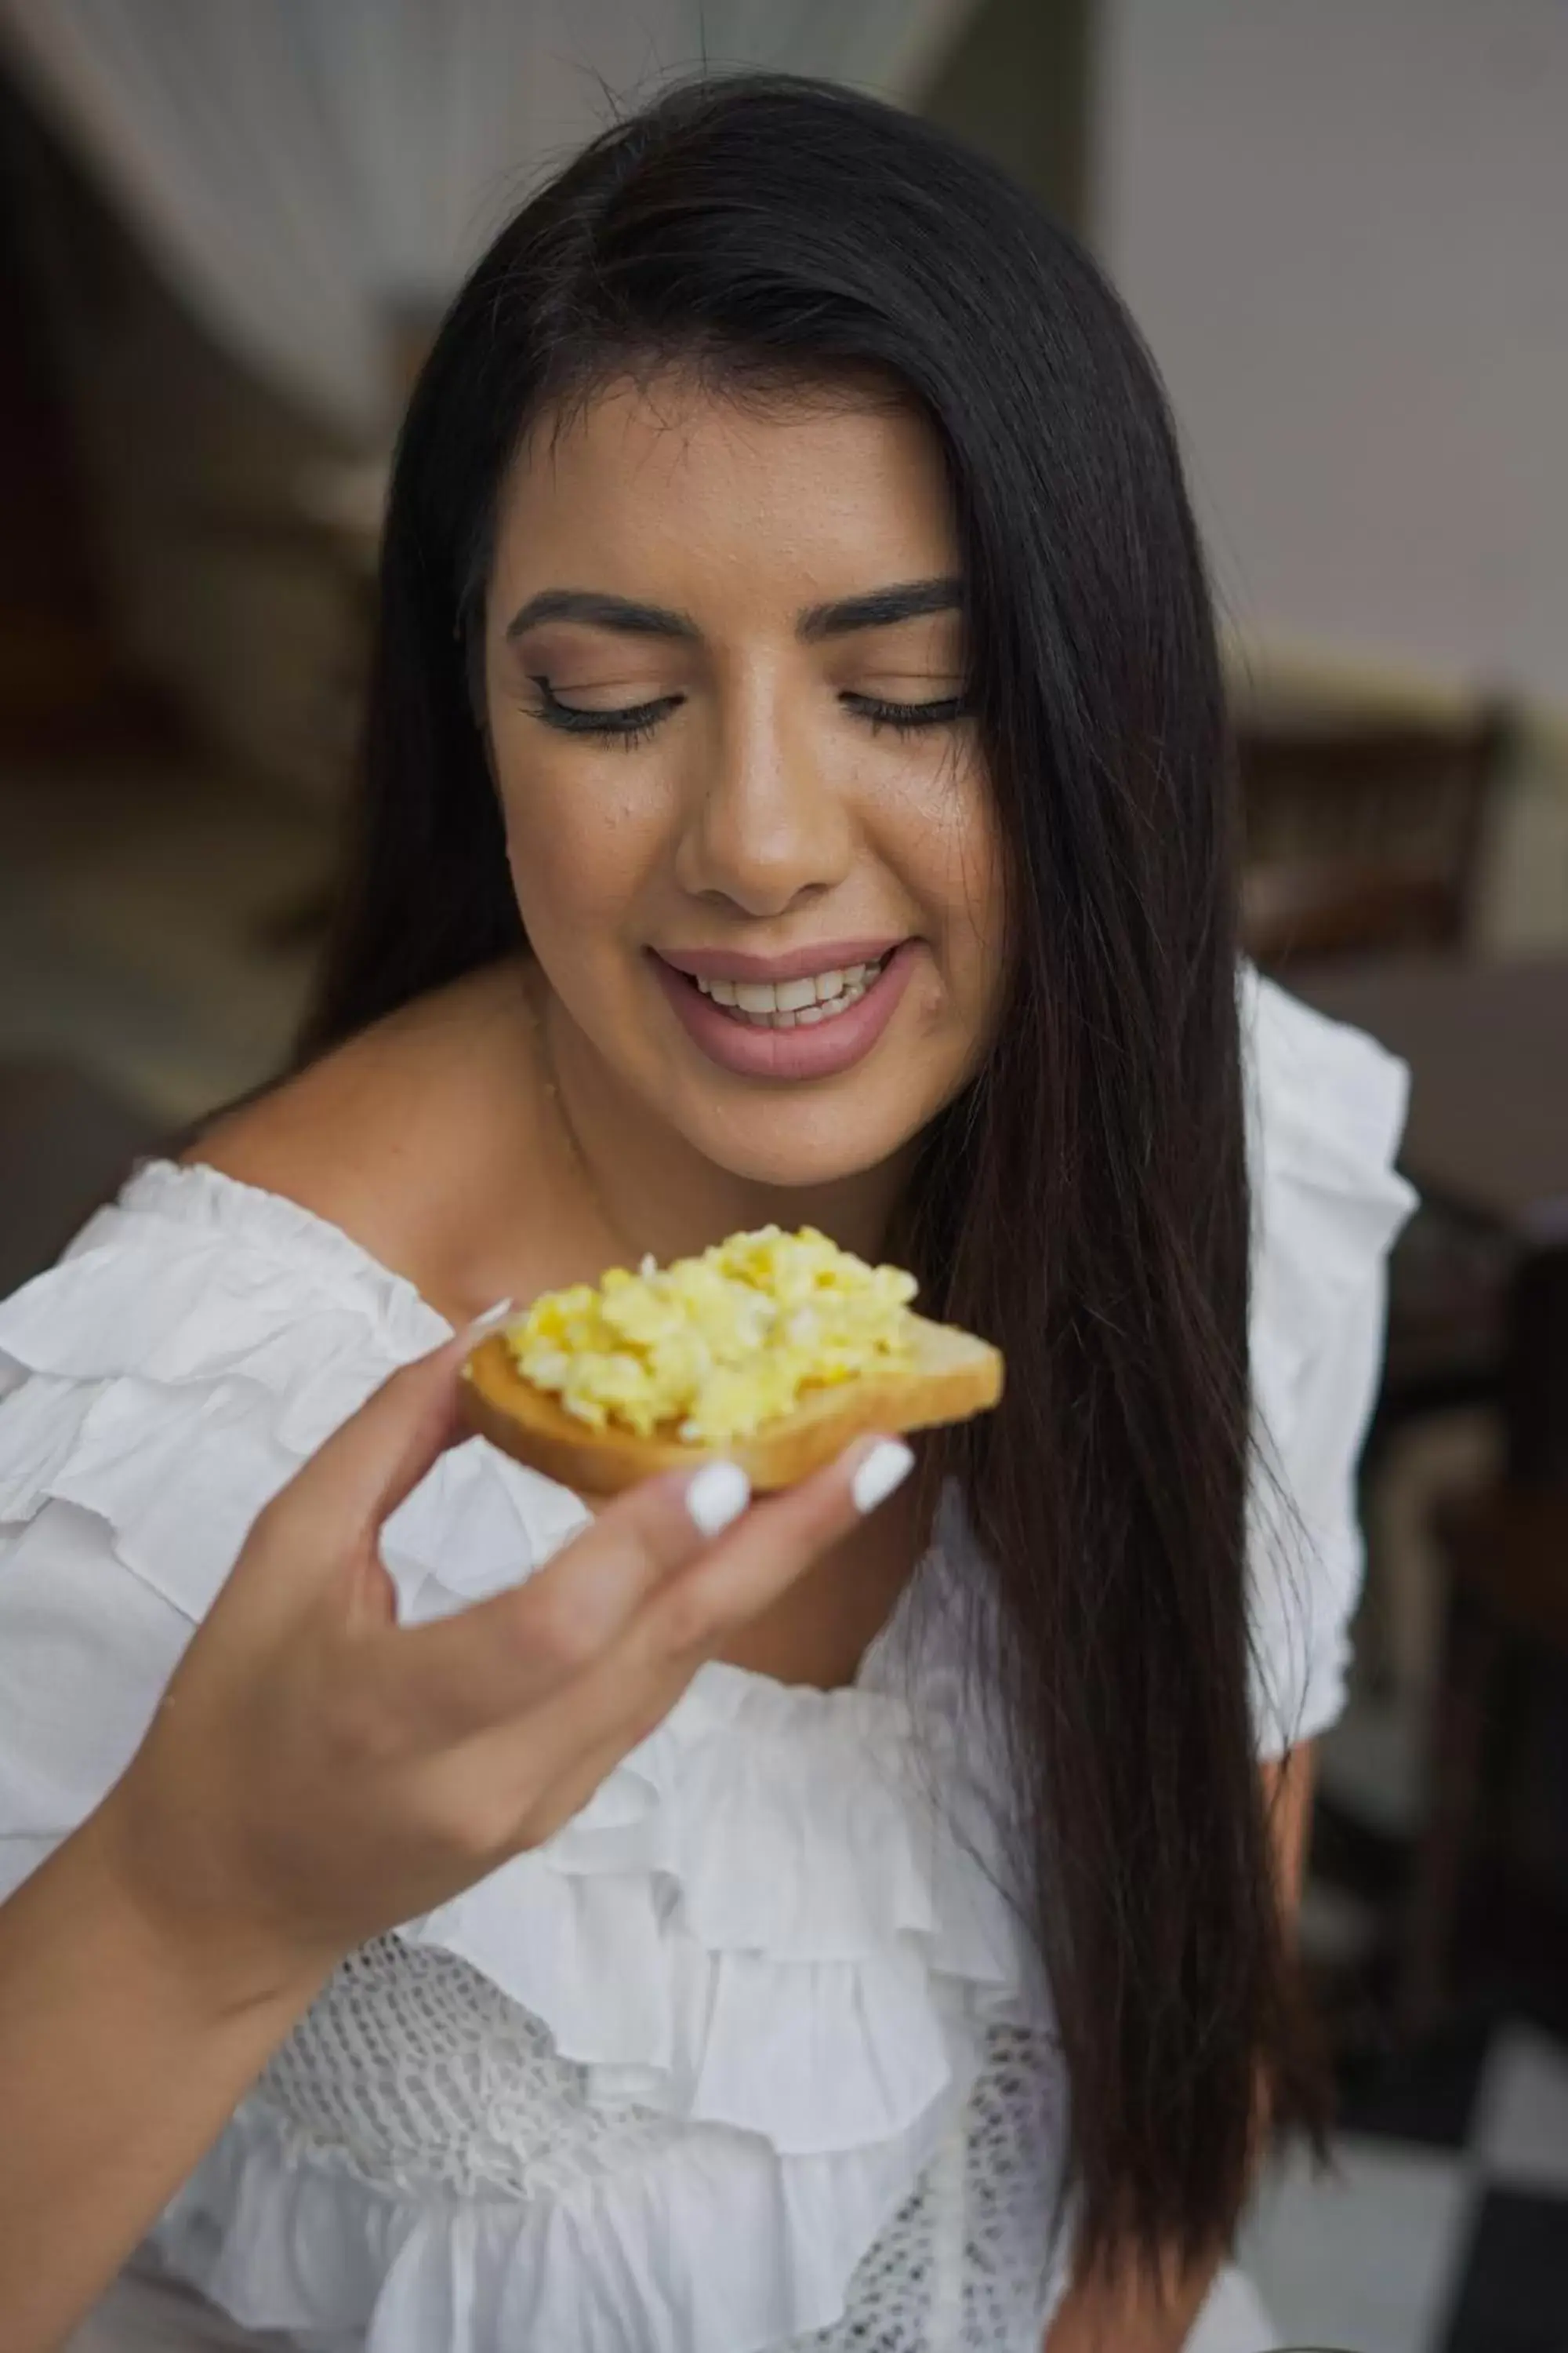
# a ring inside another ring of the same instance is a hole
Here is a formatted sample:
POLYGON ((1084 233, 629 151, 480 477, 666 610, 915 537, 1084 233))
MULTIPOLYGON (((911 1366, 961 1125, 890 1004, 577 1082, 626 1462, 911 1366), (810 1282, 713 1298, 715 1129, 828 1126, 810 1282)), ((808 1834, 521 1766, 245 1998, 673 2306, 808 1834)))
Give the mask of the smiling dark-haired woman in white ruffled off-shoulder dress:
POLYGON ((301 1064, 0 1313, 31 2341, 148 2226, 334 2353, 1187 2341, 1316 2113, 1408 1200, 1401 1068, 1232 899, 1168 421, 1060 231, 790 80, 527 205, 404 426, 301 1064), (437 1459, 487 1301, 769 1219, 999 1412, 710 1548, 437 1459))

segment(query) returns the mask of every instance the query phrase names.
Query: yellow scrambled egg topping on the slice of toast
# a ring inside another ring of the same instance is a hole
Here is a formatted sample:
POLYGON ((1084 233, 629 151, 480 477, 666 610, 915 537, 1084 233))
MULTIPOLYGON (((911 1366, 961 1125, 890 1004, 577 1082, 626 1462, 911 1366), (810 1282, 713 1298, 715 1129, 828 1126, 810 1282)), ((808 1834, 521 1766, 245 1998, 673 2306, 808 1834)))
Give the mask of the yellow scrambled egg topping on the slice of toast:
POLYGON ((545 1292, 505 1339, 524 1381, 592 1428, 724 1445, 788 1414, 802 1388, 907 1358, 914 1289, 816 1226, 762 1226, 701 1259, 545 1292))

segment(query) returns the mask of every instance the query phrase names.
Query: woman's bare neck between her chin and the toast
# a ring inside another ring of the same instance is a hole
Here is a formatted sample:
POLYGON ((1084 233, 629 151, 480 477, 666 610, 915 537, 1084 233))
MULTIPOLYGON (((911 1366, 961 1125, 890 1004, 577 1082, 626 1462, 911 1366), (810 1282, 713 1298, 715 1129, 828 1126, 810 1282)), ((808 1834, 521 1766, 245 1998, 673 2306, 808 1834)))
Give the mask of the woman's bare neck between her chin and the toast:
POLYGON ((914 1148, 823 1186, 736 1176, 628 1094, 559 998, 534 998, 557 1087, 557 1108, 583 1160, 592 1207, 616 1257, 651 1252, 661 1264, 693 1257, 726 1233, 778 1224, 820 1226, 842 1249, 877 1261, 914 1148))

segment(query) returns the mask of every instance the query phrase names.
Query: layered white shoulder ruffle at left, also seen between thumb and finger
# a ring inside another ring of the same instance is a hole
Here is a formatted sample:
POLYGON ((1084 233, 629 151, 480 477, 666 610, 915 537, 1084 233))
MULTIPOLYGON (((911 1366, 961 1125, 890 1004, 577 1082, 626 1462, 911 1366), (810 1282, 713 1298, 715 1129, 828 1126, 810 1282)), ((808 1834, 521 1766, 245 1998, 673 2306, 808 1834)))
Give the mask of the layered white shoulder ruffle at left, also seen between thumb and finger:
MULTIPOLYGON (((449 1332, 296 1202, 148 1162, 0 1301, 0 1525, 49 1501, 94 1513, 115 1558, 195 1626, 261 1506, 449 1332)), ((383 1529, 402 1617, 520 1581, 585 1518, 484 1440, 454 1447, 383 1529)))

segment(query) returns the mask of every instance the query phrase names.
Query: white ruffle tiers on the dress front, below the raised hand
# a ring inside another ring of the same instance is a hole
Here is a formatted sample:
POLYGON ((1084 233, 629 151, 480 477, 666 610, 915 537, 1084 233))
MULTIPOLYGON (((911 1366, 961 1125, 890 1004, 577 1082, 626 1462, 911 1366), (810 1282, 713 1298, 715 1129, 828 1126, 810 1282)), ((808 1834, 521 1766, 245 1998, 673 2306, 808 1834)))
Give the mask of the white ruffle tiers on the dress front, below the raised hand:
POLYGON ((160 2252, 244 2325, 367 2353, 762 2353, 830 2327, 985 2026, 1023 2017, 1011 1913, 898 1791, 893 1715, 710 1664, 552 1840, 395 1932, 538 2017, 590 2104, 677 2122, 654 2158, 407 2198, 252 2099, 160 2252))

